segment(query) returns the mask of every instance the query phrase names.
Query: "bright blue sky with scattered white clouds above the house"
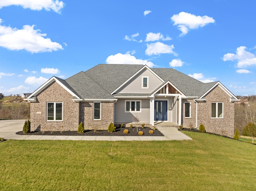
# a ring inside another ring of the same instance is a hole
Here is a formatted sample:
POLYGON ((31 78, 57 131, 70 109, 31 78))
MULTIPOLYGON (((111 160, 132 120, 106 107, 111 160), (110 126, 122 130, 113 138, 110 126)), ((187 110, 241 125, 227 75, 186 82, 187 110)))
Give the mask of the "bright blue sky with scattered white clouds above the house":
MULTIPOLYGON (((174 68, 256 95, 254 0, 0 0, 0 93, 100 63, 174 68)), ((125 74, 119 74, 125 75, 125 74)))

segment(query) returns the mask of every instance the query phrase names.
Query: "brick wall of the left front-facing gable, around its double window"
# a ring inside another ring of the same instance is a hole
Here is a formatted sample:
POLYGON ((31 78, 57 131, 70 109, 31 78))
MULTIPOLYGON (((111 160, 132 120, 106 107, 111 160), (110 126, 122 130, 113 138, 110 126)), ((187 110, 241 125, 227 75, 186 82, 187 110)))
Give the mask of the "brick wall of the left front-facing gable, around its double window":
POLYGON ((37 102, 30 103, 31 131, 77 130, 79 103, 58 83, 53 82, 37 96, 37 102), (47 102, 63 102, 63 121, 47 121, 47 102))

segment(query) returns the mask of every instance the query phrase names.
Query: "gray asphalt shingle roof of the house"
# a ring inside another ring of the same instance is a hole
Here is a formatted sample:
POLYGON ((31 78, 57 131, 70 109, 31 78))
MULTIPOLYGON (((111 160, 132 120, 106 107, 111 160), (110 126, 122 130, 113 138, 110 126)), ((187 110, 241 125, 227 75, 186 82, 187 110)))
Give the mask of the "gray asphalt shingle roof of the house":
MULTIPOLYGON (((114 98, 111 93, 143 66, 144 65, 99 64, 88 71, 77 73, 66 80, 59 80, 80 98, 111 99, 114 98)), ((151 69, 165 82, 170 81, 186 96, 202 96, 217 83, 202 83, 171 68, 151 69)), ((124 96, 128 95, 130 94, 124 96)), ((143 94, 143 96, 144 95, 146 94, 143 94)))

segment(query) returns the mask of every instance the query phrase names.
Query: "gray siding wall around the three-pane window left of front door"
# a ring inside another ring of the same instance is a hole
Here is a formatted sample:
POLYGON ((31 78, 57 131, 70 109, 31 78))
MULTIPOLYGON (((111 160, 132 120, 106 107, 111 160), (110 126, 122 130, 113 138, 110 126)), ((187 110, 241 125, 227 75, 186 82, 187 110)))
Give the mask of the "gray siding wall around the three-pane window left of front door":
POLYGON ((115 124, 136 122, 136 116, 141 122, 150 121, 150 99, 118 99, 114 105, 115 124), (125 112, 125 100, 141 100, 141 112, 125 112))

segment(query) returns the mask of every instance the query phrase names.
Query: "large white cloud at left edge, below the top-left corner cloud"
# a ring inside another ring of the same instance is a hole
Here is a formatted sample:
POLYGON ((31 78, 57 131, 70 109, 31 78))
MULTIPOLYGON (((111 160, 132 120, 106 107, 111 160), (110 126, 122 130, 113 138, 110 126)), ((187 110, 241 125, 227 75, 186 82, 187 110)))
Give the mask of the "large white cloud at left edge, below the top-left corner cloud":
POLYGON ((0 19, 0 46, 9 50, 26 50, 31 53, 51 52, 63 49, 57 42, 44 38, 46 33, 34 30, 34 25, 24 25, 22 29, 2 26, 0 19))

